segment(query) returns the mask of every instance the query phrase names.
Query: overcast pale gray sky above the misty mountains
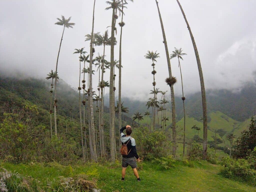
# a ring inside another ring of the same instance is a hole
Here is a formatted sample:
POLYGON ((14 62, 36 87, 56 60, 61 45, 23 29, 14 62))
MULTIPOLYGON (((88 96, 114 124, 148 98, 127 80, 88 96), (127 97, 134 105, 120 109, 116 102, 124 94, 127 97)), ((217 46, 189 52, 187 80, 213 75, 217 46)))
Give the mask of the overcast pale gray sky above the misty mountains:
MULTIPOLYGON (((236 90, 244 82, 255 81, 256 1, 180 0, 180 3, 196 40, 206 89, 236 90)), ((112 12, 106 11, 106 6, 105 1, 96 0, 94 32, 103 33, 111 25, 112 12)), ((164 82, 168 68, 156 3, 154 0, 134 0, 127 7, 122 39, 122 95, 141 100, 152 96, 148 94, 153 82, 151 61, 144 59, 147 50, 160 53, 156 63, 156 87, 169 92, 164 82)), ((76 25, 73 29, 65 29, 58 74, 73 87, 78 87, 78 55, 72 53, 75 48, 81 47, 89 52, 89 42, 84 42, 84 35, 91 33, 92 8, 93 0, 1 0, 0 70, 6 74, 24 72, 28 76, 46 77, 51 69, 55 70, 62 33, 62 26, 54 25, 56 18, 72 16, 70 22, 76 25)), ((194 49, 178 4, 175 0, 159 0, 159 8, 169 53, 174 47, 182 47, 188 54, 181 62, 185 95, 199 91, 194 49)), ((120 27, 117 26, 117 29, 115 59, 118 60, 120 27)), ((111 29, 108 30, 110 34, 111 29)), ((103 54, 103 47, 96 47, 95 50, 95 55, 98 52, 103 54)), ((105 55, 110 60, 110 47, 105 55)), ((171 60, 171 65, 173 76, 178 79, 175 94, 181 94, 177 59, 171 60)), ((109 80, 109 70, 104 80, 109 80)), ((98 73, 93 76, 94 90, 97 84, 98 73)), ((118 81, 116 87, 118 89, 118 81)))

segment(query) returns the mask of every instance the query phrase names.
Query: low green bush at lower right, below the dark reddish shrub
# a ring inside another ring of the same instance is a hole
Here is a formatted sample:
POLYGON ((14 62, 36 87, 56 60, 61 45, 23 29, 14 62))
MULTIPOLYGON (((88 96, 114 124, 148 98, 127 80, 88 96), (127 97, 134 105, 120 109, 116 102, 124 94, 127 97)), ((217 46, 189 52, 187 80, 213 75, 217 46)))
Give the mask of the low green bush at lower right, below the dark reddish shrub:
POLYGON ((254 182, 254 176, 256 171, 251 169, 249 162, 246 159, 231 159, 223 158, 221 165, 224 166, 224 169, 221 171, 221 174, 227 178, 236 178, 247 181, 254 182))

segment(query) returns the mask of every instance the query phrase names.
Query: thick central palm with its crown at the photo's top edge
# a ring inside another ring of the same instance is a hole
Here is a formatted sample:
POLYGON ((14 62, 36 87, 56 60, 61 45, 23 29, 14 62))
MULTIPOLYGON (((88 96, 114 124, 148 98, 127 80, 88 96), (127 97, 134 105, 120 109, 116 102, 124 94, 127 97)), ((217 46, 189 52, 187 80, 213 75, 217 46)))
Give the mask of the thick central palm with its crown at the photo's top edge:
MULTIPOLYGON (((110 156, 111 161, 115 162, 115 135, 114 135, 114 117, 115 117, 115 103, 114 103, 114 44, 115 44, 115 21, 118 18, 116 10, 120 10, 120 1, 113 0, 112 2, 107 1, 110 7, 106 10, 112 9, 112 23, 111 23, 111 47, 110 47, 110 88, 109 88, 109 111, 110 111, 110 156)), ((122 10, 121 10, 122 11, 122 10)))

